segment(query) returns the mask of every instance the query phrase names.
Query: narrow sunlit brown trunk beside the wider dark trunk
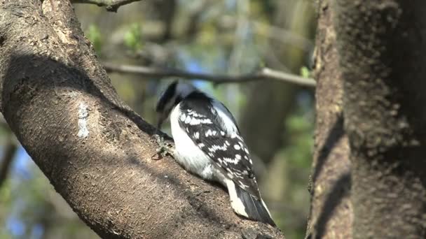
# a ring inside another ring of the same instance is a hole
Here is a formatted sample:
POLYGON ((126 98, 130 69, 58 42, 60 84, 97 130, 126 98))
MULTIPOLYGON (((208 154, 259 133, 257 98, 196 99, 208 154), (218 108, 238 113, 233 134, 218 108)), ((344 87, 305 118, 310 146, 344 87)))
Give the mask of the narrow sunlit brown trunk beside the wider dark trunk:
POLYGON ((317 119, 307 238, 352 238, 348 136, 331 1, 318 3, 314 74, 317 119))

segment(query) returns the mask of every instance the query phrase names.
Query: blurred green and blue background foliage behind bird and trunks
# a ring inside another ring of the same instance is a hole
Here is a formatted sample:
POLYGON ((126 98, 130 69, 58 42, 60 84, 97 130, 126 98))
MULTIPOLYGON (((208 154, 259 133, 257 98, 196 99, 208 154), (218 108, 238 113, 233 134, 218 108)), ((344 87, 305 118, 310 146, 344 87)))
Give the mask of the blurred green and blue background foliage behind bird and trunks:
MULTIPOLYGON (((102 62, 230 75, 268 66, 307 77, 316 26, 313 4, 146 0, 123 6, 118 13, 85 4, 76 4, 75 9, 102 62)), ((122 99, 151 123, 158 94, 174 80, 109 75, 122 99)), ((213 85, 193 79, 193 83, 234 113, 256 158, 256 174, 273 217, 287 238, 303 238, 310 201, 313 90, 268 80, 213 85)), ((3 123, 0 239, 98 238, 55 193, 22 147, 11 152, 16 142, 3 123)))

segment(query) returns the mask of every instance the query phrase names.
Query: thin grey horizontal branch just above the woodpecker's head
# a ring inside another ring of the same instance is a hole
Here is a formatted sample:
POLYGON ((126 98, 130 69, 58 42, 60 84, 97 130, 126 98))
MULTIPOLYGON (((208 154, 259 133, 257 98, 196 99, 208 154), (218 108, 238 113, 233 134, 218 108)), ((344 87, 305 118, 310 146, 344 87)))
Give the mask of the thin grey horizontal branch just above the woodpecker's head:
POLYGON ((249 82, 254 80, 280 80, 290 82, 297 85, 306 87, 315 87, 316 82, 311 78, 303 78, 298 75, 284 73, 282 71, 275 71, 270 68, 262 68, 257 73, 247 75, 214 75, 206 73, 194 73, 190 71, 182 71, 174 68, 153 68, 146 66, 130 66, 130 65, 116 65, 111 63, 104 63, 104 69, 107 72, 118 73, 135 73, 144 75, 146 77, 163 78, 163 77, 179 77, 186 79, 200 79, 220 83, 235 83, 235 82, 249 82))

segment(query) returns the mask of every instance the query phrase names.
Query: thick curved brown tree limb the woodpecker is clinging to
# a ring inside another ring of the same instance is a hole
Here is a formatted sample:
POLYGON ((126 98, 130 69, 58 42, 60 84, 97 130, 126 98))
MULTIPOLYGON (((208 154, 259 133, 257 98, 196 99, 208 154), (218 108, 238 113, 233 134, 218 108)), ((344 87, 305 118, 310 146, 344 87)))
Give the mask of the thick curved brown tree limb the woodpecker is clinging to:
POLYGON ((282 238, 223 189, 155 154, 65 0, 0 2, 0 110, 57 192, 102 238, 282 238))

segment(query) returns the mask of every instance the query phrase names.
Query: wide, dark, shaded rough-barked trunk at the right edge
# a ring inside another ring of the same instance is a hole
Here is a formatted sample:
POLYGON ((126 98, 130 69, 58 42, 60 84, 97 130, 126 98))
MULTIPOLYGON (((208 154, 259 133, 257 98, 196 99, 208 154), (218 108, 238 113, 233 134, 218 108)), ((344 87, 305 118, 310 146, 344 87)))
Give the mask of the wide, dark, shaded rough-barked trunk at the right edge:
POLYGON ((426 1, 336 0, 354 238, 426 238, 426 1))

